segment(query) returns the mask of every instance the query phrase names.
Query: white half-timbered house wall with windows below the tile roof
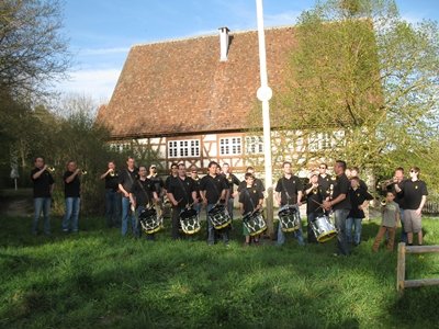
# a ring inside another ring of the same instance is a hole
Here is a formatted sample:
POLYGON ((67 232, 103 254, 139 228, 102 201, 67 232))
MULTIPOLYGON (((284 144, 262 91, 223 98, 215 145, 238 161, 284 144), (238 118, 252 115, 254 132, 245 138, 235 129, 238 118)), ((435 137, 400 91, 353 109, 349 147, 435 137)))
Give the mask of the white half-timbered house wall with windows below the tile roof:
MULTIPOLYGON (((316 133, 272 132, 272 159, 274 175, 281 174, 281 163, 291 161, 301 163, 304 154, 313 154, 318 150, 335 146, 334 138, 342 138, 342 134, 334 133, 323 135, 316 133)), ((210 161, 219 164, 229 163, 233 172, 244 173, 246 168, 252 166, 262 174, 264 166, 263 138, 249 133, 217 133, 171 137, 137 138, 130 140, 116 140, 110 143, 115 149, 130 150, 132 147, 149 149, 150 158, 158 159, 157 164, 161 172, 168 172, 172 162, 183 162, 187 168, 195 166, 200 172, 206 172, 210 161)), ((136 155, 136 154, 135 154, 136 155)), ((139 156, 139 155, 136 155, 139 156)), ((316 162, 322 159, 316 158, 316 162)), ((148 163, 146 163, 148 164, 148 163)), ((308 166, 304 164, 299 174, 306 177, 308 166)), ((258 174, 259 175, 259 174, 258 174)))

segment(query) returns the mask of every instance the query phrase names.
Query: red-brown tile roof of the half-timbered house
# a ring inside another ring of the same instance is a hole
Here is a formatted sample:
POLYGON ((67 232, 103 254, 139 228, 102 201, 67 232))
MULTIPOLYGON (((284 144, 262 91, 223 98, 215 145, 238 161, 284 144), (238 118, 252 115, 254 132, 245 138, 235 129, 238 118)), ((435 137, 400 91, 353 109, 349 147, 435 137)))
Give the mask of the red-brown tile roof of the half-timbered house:
MULTIPOLYGON (((219 36, 134 46, 98 121, 113 138, 236 132, 248 127, 259 104, 258 34, 230 33, 228 60, 219 61, 219 36)), ((266 31, 269 86, 285 80, 293 27, 266 31)))

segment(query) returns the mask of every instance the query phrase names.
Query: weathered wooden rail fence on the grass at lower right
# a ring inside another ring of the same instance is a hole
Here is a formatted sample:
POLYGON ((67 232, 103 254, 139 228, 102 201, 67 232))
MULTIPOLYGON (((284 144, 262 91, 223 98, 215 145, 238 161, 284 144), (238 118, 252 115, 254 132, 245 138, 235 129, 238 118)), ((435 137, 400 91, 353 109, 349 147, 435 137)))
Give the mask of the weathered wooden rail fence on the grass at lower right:
POLYGON ((439 285, 439 279, 405 280, 405 254, 439 252, 439 246, 405 246, 398 243, 398 258, 396 268, 396 290, 404 291, 406 287, 419 287, 426 285, 439 285))

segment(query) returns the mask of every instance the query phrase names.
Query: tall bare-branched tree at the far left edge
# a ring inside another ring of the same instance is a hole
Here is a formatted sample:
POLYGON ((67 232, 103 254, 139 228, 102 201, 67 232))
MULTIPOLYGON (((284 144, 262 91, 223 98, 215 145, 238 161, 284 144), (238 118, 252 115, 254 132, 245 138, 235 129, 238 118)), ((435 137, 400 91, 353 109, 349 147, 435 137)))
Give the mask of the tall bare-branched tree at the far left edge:
POLYGON ((69 67, 60 10, 57 0, 0 2, 0 166, 9 167, 13 154, 24 169, 29 156, 44 149, 43 132, 52 132, 35 116, 32 101, 46 95, 69 67))

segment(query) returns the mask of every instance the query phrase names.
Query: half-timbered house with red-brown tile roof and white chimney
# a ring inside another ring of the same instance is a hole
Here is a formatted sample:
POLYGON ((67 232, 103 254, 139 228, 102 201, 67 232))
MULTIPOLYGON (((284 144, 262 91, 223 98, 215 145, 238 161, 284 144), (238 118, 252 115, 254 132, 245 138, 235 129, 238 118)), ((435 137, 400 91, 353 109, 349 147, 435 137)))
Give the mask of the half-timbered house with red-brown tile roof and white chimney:
MULTIPOLYGON (((269 84, 285 83, 292 26, 266 31, 269 84)), ((111 129, 111 145, 151 149, 164 168, 170 162, 205 168, 228 162, 235 171, 263 159, 261 134, 247 129, 258 106, 256 31, 133 46, 109 104, 98 121, 111 129)))

